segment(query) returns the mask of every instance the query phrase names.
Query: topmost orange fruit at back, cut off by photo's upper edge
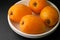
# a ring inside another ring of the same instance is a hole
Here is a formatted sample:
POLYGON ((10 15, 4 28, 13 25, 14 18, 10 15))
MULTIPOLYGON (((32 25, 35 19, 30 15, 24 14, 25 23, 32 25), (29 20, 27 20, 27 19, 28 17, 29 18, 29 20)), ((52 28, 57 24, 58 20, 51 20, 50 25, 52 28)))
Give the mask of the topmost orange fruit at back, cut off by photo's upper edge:
POLYGON ((39 14, 40 11, 47 5, 48 3, 46 0, 30 0, 29 2, 29 7, 35 12, 35 14, 39 14))

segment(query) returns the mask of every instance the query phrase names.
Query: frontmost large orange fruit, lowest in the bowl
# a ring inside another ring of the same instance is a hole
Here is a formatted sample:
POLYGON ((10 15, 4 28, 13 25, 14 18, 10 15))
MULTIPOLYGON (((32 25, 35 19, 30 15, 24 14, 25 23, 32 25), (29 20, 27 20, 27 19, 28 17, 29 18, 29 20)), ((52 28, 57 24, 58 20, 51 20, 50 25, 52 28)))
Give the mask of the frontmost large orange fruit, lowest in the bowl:
POLYGON ((40 17, 26 15, 20 21, 20 30, 27 34, 40 34, 46 31, 46 25, 40 17))

